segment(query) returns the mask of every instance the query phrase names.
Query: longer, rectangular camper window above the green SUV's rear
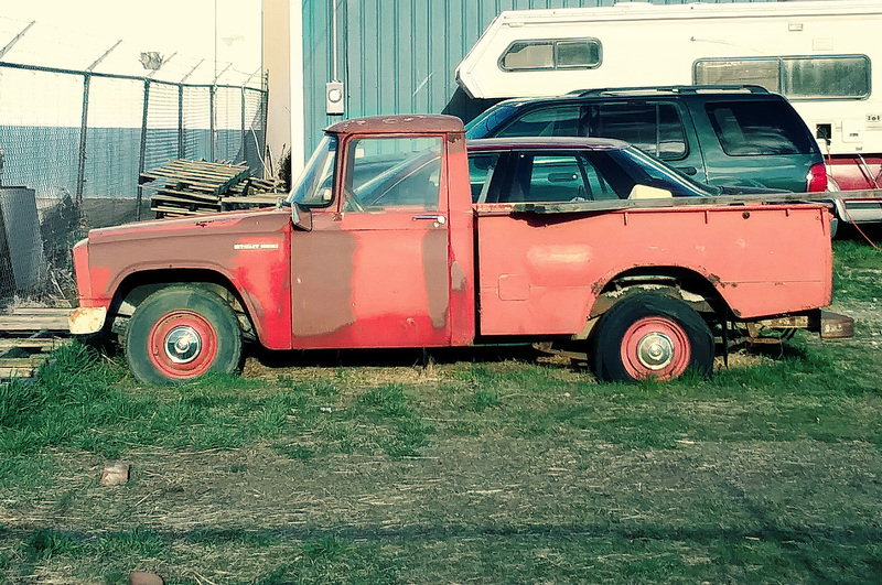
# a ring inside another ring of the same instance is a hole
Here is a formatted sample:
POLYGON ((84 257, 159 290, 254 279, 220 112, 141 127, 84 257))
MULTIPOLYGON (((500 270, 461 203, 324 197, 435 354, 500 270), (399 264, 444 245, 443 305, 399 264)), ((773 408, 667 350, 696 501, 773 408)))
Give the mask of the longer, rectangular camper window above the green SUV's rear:
POLYGON ((692 73, 696 85, 755 84, 789 99, 870 96, 867 55, 707 58, 692 73))

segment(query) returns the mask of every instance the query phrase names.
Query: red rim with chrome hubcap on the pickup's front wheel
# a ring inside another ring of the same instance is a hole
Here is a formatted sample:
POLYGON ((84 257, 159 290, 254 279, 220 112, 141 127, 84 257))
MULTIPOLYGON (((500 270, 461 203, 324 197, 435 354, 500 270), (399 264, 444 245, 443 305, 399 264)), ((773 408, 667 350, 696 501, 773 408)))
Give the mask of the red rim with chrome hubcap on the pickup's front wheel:
POLYGON ((150 329, 148 351, 163 376, 195 378, 208 371, 217 357, 217 333, 198 313, 174 311, 150 329))

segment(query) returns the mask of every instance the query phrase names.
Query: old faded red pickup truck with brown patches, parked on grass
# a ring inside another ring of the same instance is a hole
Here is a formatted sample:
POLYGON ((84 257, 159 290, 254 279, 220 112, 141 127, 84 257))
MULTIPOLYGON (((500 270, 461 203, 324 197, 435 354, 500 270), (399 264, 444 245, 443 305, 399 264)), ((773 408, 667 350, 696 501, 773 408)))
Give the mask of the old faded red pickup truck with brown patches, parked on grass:
MULTIPOLYGON (((549 185, 581 173, 590 187, 582 166, 547 170, 549 185)), ((820 311, 831 297, 825 205, 674 198, 652 185, 609 199, 483 198, 496 171, 473 167, 470 181, 456 118, 336 123, 275 209, 93 230, 73 251, 71 331, 118 334, 149 383, 234 371, 244 340, 550 342, 581 346, 599 379, 628 381, 707 375, 735 331, 849 334, 848 319, 820 311)))

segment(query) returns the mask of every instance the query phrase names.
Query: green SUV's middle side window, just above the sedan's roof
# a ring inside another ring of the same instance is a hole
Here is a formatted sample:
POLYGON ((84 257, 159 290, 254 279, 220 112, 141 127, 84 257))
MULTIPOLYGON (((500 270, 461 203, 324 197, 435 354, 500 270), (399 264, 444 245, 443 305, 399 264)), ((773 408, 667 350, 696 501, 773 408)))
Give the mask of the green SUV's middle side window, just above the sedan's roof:
POLYGON ((688 153, 680 112, 674 104, 601 104, 590 110, 588 136, 624 140, 665 161, 688 153))

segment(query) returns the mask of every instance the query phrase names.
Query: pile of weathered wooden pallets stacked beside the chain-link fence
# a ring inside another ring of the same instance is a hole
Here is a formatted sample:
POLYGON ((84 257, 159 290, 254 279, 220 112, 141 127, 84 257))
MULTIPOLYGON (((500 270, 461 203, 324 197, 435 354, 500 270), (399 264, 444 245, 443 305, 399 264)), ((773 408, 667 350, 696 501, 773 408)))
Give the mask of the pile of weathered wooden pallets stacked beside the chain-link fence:
POLYGON ((276 205, 276 182, 255 178, 244 164, 184 159, 141 173, 139 183, 154 192, 157 217, 213 214, 276 205))

